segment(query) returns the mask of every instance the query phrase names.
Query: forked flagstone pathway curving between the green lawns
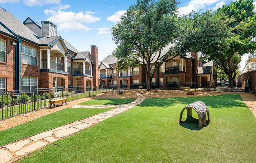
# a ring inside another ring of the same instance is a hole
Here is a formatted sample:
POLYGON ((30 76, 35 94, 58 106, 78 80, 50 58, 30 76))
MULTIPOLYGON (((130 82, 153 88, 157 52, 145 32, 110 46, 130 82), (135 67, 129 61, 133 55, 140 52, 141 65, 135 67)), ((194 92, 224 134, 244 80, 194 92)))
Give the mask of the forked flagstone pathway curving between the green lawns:
POLYGON ((131 103, 120 105, 74 105, 73 108, 106 108, 115 107, 115 109, 102 112, 100 114, 84 118, 79 121, 75 121, 55 129, 51 129, 39 134, 29 136, 24 139, 17 140, 12 143, 8 143, 0 147, 0 163, 14 162, 29 153, 34 152, 46 145, 49 145, 59 139, 65 138, 71 134, 86 129, 96 123, 104 121, 112 116, 115 116, 121 112, 139 105, 145 100, 143 94, 133 91, 137 95, 137 99, 131 103))

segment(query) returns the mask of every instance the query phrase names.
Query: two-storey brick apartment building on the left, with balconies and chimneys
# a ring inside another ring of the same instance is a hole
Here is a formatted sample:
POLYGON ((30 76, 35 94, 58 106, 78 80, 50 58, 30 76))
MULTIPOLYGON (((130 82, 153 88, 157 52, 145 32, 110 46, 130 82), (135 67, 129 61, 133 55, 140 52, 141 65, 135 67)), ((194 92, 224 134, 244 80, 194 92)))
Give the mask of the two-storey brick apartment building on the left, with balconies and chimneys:
POLYGON ((52 22, 22 23, 0 7, 0 91, 97 86, 98 48, 90 48, 77 51, 52 22))

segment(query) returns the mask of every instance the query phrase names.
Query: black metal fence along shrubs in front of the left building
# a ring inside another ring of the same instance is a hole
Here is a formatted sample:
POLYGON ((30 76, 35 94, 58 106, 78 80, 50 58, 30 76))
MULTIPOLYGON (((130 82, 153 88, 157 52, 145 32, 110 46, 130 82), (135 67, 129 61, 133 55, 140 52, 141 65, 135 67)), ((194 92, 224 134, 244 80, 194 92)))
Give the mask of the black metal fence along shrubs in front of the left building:
POLYGON ((49 107, 50 100, 67 98, 67 101, 91 97, 110 89, 97 87, 54 87, 34 90, 0 91, 0 119, 49 107))

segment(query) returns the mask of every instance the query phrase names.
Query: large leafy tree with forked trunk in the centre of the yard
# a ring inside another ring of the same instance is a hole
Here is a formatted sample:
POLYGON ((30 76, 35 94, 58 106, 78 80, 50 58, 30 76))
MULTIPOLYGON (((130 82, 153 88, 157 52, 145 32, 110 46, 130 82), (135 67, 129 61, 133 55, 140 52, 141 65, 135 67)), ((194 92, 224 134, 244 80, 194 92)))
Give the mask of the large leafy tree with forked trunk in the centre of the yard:
POLYGON ((151 90, 157 69, 171 56, 161 51, 176 39, 176 4, 176 0, 137 0, 112 27, 113 40, 118 45, 113 51, 119 59, 117 71, 142 65, 147 91, 151 90))

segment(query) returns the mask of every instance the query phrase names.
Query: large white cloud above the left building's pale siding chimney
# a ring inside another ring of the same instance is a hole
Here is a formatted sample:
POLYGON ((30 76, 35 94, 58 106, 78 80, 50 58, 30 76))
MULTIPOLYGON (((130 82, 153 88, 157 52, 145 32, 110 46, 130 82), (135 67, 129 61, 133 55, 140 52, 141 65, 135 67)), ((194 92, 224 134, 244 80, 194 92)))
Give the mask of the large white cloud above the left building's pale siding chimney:
POLYGON ((44 10, 44 13, 49 16, 47 20, 53 22, 58 26, 59 30, 79 30, 79 31, 88 31, 88 28, 84 23, 93 23, 99 21, 100 18, 93 16, 94 14, 91 11, 74 13, 72 11, 54 11, 54 10, 44 10))

